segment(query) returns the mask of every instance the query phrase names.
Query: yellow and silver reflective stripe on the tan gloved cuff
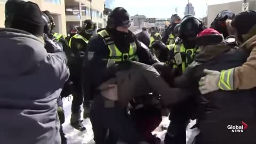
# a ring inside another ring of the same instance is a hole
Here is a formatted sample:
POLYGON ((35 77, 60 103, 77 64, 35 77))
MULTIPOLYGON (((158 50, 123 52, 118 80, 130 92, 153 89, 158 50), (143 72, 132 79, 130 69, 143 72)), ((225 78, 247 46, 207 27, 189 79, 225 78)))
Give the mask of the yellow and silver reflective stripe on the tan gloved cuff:
POLYGON ((228 70, 222 70, 220 73, 220 79, 218 86, 221 90, 231 91, 234 90, 234 68, 228 70))

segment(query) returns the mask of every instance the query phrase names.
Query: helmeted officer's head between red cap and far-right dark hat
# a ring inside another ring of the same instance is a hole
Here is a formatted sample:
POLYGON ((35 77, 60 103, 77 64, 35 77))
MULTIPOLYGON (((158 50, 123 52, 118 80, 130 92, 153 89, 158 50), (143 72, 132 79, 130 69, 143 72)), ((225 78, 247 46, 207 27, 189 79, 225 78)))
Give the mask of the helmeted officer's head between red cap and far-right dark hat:
POLYGON ((233 32, 230 29, 230 22, 234 18, 235 13, 227 10, 221 11, 211 23, 211 28, 218 30, 221 34, 223 34, 224 38, 227 38, 228 36, 233 35, 233 32))

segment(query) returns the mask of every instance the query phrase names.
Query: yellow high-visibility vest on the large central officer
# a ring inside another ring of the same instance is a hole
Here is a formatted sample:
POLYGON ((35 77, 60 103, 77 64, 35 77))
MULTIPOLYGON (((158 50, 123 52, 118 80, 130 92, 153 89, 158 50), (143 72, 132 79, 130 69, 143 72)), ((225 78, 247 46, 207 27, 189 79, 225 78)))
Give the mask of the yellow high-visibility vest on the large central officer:
POLYGON ((104 43, 108 46, 109 49, 109 57, 107 67, 115 65, 115 63, 122 62, 125 60, 134 60, 138 61, 137 55, 135 55, 137 51, 137 45, 135 42, 130 43, 130 49, 128 53, 122 53, 118 50, 115 42, 110 38, 108 32, 106 30, 102 30, 98 33, 102 38, 104 43))

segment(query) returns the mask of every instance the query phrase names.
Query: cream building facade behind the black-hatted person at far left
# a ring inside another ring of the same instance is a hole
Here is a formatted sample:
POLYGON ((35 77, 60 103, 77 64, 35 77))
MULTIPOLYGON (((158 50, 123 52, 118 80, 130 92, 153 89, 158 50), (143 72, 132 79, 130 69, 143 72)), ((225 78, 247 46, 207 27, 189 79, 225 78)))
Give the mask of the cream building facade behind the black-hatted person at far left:
MULTIPOLYGON (((4 6, 6 0, 0 0, 0 27, 4 27, 4 6)), ((41 11, 50 11, 55 22, 55 31, 57 33, 67 35, 66 31, 66 15, 65 0, 31 0, 36 3, 41 11)))

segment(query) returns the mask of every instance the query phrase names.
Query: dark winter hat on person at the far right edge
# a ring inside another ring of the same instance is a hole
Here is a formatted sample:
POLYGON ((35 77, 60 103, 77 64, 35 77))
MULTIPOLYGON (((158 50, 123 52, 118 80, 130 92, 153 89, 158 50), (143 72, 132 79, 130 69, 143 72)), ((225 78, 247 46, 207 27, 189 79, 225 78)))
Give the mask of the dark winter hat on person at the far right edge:
POLYGON ((242 36, 248 34, 254 25, 256 25, 255 11, 245 11, 238 13, 234 20, 231 22, 231 26, 236 29, 238 38, 242 42, 244 41, 242 36))

